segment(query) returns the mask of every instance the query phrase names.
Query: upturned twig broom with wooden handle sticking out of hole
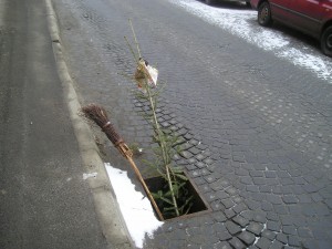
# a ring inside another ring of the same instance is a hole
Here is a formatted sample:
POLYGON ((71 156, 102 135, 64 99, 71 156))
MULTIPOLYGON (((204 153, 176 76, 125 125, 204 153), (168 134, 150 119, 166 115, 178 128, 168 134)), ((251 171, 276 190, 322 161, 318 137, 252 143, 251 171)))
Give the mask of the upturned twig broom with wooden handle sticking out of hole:
POLYGON ((129 162, 132 168, 134 169, 136 177, 138 178, 139 183, 142 184, 148 199, 151 200, 152 205, 154 206, 158 217, 160 220, 164 220, 163 215, 154 200, 148 187, 146 186, 135 162, 133 160, 133 152, 128 148, 128 146, 125 144, 123 138, 117 134, 115 131, 113 124, 110 122, 107 117, 107 113, 105 108, 102 106, 98 106, 96 104, 89 104, 81 108, 82 114, 87 120, 93 121, 96 123, 97 126, 102 128, 102 131, 106 134, 108 139, 112 142, 112 144, 120 151, 120 153, 129 162))

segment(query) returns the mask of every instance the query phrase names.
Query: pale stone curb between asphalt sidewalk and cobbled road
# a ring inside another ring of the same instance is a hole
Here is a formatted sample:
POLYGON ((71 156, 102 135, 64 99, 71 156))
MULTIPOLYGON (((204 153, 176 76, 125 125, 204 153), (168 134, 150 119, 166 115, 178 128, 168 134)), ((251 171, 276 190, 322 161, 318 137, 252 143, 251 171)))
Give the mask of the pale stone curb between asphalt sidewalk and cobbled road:
POLYGON ((68 103, 74 133, 81 151, 84 172, 97 173, 95 177, 91 177, 86 180, 89 181, 93 195, 95 211, 103 235, 112 248, 114 248, 113 246, 115 246, 116 249, 135 248, 121 215, 104 163, 98 155, 98 148, 94 143, 93 133, 77 114, 79 110, 81 110, 81 104, 64 60, 56 14, 51 0, 45 0, 45 7, 56 70, 63 85, 64 101, 68 103))

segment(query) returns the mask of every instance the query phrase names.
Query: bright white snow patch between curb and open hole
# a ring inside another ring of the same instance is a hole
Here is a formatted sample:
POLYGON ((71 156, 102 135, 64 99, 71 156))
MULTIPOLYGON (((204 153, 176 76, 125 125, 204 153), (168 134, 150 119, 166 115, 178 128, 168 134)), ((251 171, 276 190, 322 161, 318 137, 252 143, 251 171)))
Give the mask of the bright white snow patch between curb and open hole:
POLYGON ((145 236, 153 237, 153 231, 164 222, 155 215, 148 198, 135 190, 126 172, 105 163, 111 185, 115 191, 121 212, 136 247, 143 248, 145 236))

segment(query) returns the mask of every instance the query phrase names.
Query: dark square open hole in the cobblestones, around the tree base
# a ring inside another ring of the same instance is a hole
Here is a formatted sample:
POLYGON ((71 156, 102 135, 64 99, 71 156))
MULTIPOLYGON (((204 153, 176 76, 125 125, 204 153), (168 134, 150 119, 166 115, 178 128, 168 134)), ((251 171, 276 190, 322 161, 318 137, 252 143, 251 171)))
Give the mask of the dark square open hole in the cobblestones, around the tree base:
MULTIPOLYGON (((187 174, 185 174, 187 176, 187 174)), ((188 177, 188 176, 187 176, 188 177)), ((147 178, 145 179, 145 183, 148 187, 148 189, 152 193, 157 193, 158 189, 162 189, 166 184, 166 180, 163 177, 152 177, 152 178, 147 178)), ((195 183, 188 178, 188 180, 186 181, 185 188, 188 190, 188 196, 193 196, 193 206, 190 207, 189 211, 186 215, 183 216, 178 216, 178 217, 167 217, 164 216, 165 220, 174 220, 174 219, 184 219, 184 218, 190 218, 194 216, 198 216, 198 215, 203 215, 206 212, 211 211, 211 209, 209 208, 207 201, 204 199, 204 197, 200 195, 197 186, 195 185, 195 183)), ((156 200, 156 199, 155 199, 156 200)), ((157 203, 157 206, 162 209, 160 207, 160 203, 157 203)), ((179 204, 178 206, 180 206, 181 204, 179 204)), ((160 212, 163 214, 163 211, 160 210, 160 212)))

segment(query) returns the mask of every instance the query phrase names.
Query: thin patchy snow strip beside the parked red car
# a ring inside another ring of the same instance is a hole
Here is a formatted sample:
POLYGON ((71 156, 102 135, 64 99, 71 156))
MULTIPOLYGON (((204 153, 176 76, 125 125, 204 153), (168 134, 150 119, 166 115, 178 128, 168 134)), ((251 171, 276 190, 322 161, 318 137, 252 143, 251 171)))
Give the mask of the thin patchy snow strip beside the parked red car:
POLYGON ((317 54, 315 50, 308 49, 305 44, 302 44, 300 50, 293 48, 290 44, 290 39, 283 35, 282 32, 259 27, 257 11, 215 8, 198 0, 169 1, 264 51, 273 52, 278 58, 286 59, 294 65, 314 72, 320 79, 332 83, 331 59, 323 54, 317 54))

